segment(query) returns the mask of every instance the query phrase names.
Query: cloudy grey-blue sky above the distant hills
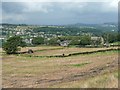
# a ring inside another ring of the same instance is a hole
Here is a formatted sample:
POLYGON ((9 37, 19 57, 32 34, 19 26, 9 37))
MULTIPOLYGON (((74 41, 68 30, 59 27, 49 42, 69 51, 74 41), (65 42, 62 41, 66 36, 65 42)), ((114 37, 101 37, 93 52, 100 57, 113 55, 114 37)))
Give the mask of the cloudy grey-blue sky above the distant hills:
POLYGON ((99 24, 118 21, 117 0, 107 2, 17 2, 0 3, 2 23, 34 25, 99 24))

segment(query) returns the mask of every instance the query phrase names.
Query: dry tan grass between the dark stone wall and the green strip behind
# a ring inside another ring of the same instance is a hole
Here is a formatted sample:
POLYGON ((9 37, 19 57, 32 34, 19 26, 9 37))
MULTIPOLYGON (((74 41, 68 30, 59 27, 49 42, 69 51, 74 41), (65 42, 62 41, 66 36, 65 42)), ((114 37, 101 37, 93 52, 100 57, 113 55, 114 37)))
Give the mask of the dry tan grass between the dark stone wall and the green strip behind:
POLYGON ((89 51, 97 51, 97 50, 106 50, 106 49, 111 49, 111 48, 117 48, 117 47, 110 47, 110 48, 67 48, 66 47, 63 49, 61 48, 59 50, 39 51, 39 52, 33 53, 33 55, 53 56, 53 55, 62 55, 63 53, 65 55, 68 55, 68 54, 77 53, 77 52, 89 52, 89 51))

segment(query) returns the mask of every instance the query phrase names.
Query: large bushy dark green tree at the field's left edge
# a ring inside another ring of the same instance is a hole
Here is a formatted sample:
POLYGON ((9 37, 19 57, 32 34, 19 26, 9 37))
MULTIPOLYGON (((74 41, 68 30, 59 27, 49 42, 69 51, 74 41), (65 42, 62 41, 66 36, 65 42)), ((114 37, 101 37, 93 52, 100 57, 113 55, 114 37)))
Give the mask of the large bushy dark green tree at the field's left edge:
POLYGON ((5 43, 3 43, 3 50, 6 54, 16 54, 19 50, 18 47, 25 47, 26 43, 23 42, 20 36, 10 37, 5 43))

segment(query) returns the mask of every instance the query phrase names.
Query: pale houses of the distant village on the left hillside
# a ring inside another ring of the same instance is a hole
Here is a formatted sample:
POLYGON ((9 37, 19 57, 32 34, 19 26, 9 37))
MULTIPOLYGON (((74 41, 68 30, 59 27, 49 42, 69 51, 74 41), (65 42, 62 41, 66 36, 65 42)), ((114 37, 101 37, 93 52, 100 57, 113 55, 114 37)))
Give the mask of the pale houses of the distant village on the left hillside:
MULTIPOLYGON (((35 33, 33 31, 34 28, 41 28, 41 27, 45 27, 45 26, 8 26, 8 25, 4 25, 4 26, 0 26, 1 29, 1 37, 0 39, 2 40, 7 40, 7 38, 15 36, 15 35, 19 35, 22 36, 22 38, 24 38, 24 41, 26 43, 30 43, 32 44, 32 38, 34 37, 43 37, 46 39, 50 39, 50 37, 61 37, 62 35, 56 35, 56 34, 45 34, 45 32, 39 32, 39 33, 35 33)), ((55 27, 55 28, 64 28, 61 26, 47 26, 49 27, 55 27)))

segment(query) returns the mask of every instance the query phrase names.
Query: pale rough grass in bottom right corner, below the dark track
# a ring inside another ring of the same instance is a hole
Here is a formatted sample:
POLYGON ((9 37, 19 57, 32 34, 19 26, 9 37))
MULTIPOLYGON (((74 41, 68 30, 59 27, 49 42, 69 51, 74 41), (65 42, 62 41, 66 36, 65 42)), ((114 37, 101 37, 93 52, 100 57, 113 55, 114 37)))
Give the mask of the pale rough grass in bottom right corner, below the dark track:
POLYGON ((93 78, 53 85, 50 88, 118 88, 118 71, 93 78))

